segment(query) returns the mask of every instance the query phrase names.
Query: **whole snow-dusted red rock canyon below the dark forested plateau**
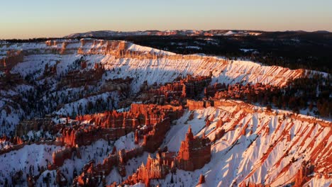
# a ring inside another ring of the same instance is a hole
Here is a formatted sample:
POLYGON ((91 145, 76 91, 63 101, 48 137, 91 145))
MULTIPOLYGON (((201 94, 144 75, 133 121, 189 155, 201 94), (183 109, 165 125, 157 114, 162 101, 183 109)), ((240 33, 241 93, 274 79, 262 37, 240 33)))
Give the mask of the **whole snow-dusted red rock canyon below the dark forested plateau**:
POLYGON ((316 74, 331 76, 122 40, 0 43, 0 185, 331 186, 330 118, 245 102, 316 74))

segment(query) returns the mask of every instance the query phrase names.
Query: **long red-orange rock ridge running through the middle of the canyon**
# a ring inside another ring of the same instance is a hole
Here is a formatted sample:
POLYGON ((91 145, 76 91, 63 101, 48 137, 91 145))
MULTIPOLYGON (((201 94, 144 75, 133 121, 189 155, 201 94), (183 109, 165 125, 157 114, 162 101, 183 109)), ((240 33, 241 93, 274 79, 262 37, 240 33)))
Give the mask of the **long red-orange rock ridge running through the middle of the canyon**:
MULTIPOLYGON (((160 133, 165 132, 165 130, 167 131, 170 127, 170 121, 179 118, 182 114, 182 106, 157 106, 133 103, 131 110, 128 112, 106 111, 105 113, 96 115, 78 116, 77 120, 87 120, 90 123, 94 123, 96 128, 94 126, 82 127, 79 125, 74 125, 71 128, 63 128, 60 131, 62 136, 57 137, 57 142, 64 142, 66 145, 72 147, 75 145, 89 145, 100 138, 116 140, 118 137, 133 132, 136 129, 140 130, 140 135, 145 135, 145 138, 150 140, 154 139, 155 133, 158 132, 158 135, 162 135, 160 133), (143 126, 147 129, 142 128, 143 126), (155 131, 156 127, 163 131, 155 131), (149 132, 150 130, 153 131, 149 132)), ((155 147, 155 145, 147 143, 147 147, 155 147)))

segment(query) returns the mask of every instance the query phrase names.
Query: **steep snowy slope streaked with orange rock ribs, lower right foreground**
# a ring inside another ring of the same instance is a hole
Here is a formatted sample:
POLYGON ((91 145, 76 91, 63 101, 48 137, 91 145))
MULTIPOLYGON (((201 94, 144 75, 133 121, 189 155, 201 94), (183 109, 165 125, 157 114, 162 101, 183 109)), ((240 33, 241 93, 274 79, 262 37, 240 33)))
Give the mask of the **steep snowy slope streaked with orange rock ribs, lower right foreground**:
POLYGON ((170 183, 169 174, 165 180, 154 181, 155 184, 195 186, 204 174, 206 186, 248 183, 285 186, 294 181, 304 162, 314 165, 314 178, 308 182, 309 186, 332 184, 328 178, 331 176, 326 175, 332 168, 332 123, 326 122, 329 126, 324 127, 306 115, 294 118, 287 111, 265 112, 265 108, 241 102, 226 103, 230 106, 187 111, 165 140, 170 151, 177 151, 189 125, 194 135, 205 133, 211 140, 216 132, 225 130, 211 146, 211 162, 193 172, 177 170, 173 176, 176 183, 170 183), (189 120, 191 113, 194 119, 189 120), (207 118, 211 119, 208 127, 207 118), (223 125, 217 128, 219 120, 223 125))

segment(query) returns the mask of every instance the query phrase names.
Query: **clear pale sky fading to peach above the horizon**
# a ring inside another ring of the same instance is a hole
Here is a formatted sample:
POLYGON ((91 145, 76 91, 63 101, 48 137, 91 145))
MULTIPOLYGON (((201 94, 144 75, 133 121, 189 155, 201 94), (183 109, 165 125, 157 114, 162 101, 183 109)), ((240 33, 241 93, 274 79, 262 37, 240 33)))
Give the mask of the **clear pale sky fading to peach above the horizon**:
POLYGON ((90 30, 329 30, 332 0, 6 0, 1 38, 90 30))

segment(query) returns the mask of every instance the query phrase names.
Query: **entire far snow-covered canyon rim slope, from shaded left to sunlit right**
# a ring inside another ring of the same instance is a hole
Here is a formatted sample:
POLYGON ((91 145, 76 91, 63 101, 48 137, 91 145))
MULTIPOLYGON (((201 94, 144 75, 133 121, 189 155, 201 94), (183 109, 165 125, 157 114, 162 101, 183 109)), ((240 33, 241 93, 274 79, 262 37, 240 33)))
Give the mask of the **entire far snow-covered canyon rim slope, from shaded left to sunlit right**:
MULTIPOLYGON (((300 77, 302 69, 291 70, 284 67, 264 66, 255 62, 224 60, 221 57, 206 57, 200 55, 176 55, 172 52, 155 50, 129 42, 120 42, 126 45, 125 52, 137 52, 133 55, 117 57, 114 55, 118 48, 110 52, 108 47, 113 42, 104 40, 54 40, 45 43, 23 43, 0 45, 0 51, 23 50, 26 51, 23 62, 13 68, 26 76, 33 72, 42 72, 45 64, 52 66, 57 62, 57 74, 69 70, 70 64, 80 57, 86 57, 88 64, 101 62, 106 69, 115 73, 108 74, 107 79, 133 77, 138 85, 147 80, 148 84, 165 83, 178 76, 186 74, 209 75, 212 74, 213 83, 234 84, 236 82, 263 83, 283 86, 287 80, 300 77), (61 51, 62 50, 62 51, 61 51), (62 52, 62 54, 59 54, 62 52), (154 55, 153 57, 147 54, 154 55), (40 64, 42 63, 42 64, 40 64)), ((134 89, 137 91, 137 88, 134 89)))

